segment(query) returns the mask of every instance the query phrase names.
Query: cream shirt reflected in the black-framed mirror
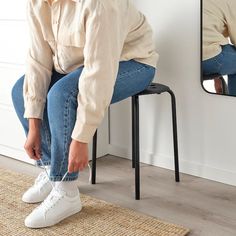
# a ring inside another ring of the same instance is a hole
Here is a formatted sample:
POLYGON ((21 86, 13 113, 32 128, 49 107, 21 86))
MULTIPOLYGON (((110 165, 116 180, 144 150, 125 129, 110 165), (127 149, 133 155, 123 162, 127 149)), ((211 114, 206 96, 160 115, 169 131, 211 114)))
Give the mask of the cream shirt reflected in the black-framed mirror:
POLYGON ((203 0, 203 60, 221 52, 220 45, 236 45, 236 0, 203 0))

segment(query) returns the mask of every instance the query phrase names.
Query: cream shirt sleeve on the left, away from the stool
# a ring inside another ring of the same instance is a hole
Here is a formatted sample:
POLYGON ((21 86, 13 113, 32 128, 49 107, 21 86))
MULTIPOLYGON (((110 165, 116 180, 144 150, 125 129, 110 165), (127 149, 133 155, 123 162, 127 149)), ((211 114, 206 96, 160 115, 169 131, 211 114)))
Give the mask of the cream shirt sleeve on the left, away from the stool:
POLYGON ((23 84, 24 118, 43 120, 43 111, 52 74, 52 52, 44 40, 40 24, 34 14, 31 1, 27 2, 27 22, 30 46, 26 58, 23 84))

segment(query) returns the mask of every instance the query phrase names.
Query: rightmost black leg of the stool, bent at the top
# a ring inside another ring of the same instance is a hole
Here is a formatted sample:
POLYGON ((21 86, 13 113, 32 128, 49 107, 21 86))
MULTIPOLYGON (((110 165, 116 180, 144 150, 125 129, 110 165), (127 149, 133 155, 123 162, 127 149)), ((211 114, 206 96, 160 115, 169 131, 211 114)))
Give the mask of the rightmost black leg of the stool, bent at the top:
POLYGON ((177 118, 176 118, 176 100, 174 93, 169 90, 171 95, 172 106, 172 123, 173 123, 173 142, 174 142, 174 158, 175 158, 175 181, 179 182, 179 157, 178 157, 178 138, 177 138, 177 118))

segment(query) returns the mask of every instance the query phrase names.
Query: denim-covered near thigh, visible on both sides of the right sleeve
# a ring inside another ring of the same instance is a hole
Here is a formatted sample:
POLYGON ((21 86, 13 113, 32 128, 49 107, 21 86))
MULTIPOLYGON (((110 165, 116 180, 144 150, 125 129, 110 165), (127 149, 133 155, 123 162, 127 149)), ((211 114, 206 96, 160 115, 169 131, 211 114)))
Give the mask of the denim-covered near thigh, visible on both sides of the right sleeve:
MULTIPOLYGON (((82 70, 83 66, 57 81, 52 86, 48 99, 59 101, 67 99, 68 96, 73 94, 74 99, 77 99, 79 77, 82 70)), ((121 101, 147 88, 154 79, 155 71, 154 67, 134 60, 121 61, 111 103, 121 101)))

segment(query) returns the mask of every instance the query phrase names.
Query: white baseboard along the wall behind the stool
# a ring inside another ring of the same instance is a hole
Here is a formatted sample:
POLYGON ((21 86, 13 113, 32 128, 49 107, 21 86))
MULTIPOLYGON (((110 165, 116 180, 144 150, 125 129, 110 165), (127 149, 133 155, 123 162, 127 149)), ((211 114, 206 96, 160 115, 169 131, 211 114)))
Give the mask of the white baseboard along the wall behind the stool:
MULTIPOLYGON (((132 149, 109 144, 108 153, 131 160, 132 149)), ((151 153, 142 150, 140 151, 140 162, 174 170, 174 157, 170 156, 161 154, 153 156, 151 153)), ((236 172, 201 165, 199 163, 183 159, 179 160, 179 169, 181 173, 236 186, 236 172)))

